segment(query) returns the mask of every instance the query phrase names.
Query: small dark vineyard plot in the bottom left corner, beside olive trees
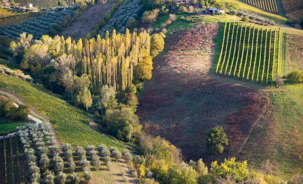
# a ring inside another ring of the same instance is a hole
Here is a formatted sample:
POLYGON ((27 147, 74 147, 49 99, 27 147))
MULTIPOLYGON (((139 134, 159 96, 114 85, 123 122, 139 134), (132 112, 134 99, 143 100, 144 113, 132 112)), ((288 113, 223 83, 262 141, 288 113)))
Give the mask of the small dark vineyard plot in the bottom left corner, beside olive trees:
POLYGON ((23 153, 17 136, 0 140, 0 183, 26 183, 23 153))

